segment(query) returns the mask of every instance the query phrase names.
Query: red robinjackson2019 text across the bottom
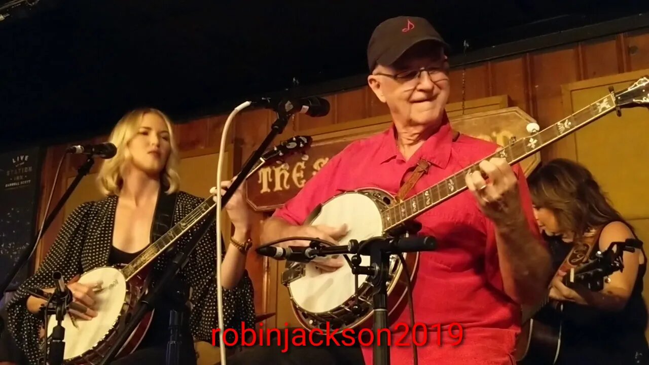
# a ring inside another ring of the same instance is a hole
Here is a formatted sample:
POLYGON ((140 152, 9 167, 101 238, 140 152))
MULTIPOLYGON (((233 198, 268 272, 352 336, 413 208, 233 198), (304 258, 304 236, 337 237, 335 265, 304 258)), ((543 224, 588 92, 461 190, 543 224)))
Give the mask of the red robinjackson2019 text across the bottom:
MULTIPOLYGON (((288 327, 288 323, 284 323, 288 327)), ((446 326, 445 326, 446 327, 446 326)), ((212 329, 212 346, 216 346, 219 329, 212 329)), ((245 328, 241 323, 241 335, 232 328, 225 329, 219 334, 225 346, 278 346, 283 347, 282 352, 288 351, 292 346, 458 346, 462 342, 463 329, 459 323, 450 323, 446 329, 438 324, 426 325, 415 323, 410 327, 406 323, 398 323, 394 331, 389 329, 360 329, 358 333, 354 329, 331 329, 327 323, 326 329, 250 329, 245 328), (416 333, 416 336, 415 336, 416 333), (224 338, 230 337, 230 340, 224 338), (290 334, 290 335, 289 335, 290 334), (324 338, 322 338, 324 336, 324 338), (232 339, 234 337, 234 339, 232 339), (342 337, 342 338, 341 338, 342 337), (448 340, 447 340, 448 338, 448 340), (385 341, 385 342, 384 342, 385 341), (447 342, 448 341, 448 342, 447 342), (446 343, 444 343, 446 342, 446 343)))

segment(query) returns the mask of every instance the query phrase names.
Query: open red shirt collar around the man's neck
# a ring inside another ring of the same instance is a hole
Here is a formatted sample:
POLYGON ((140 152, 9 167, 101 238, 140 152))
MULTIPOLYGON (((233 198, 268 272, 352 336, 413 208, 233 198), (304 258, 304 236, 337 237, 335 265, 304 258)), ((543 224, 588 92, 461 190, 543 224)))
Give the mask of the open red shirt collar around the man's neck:
MULTIPOLYGON (((403 159, 401 152, 397 148, 397 129, 395 125, 384 132, 384 139, 382 141, 381 149, 378 152, 380 163, 387 162, 392 158, 403 159)), ((444 112, 442 125, 439 130, 424 142, 419 147, 415 155, 411 157, 413 164, 416 164, 420 158, 424 158, 428 162, 438 166, 439 168, 446 168, 448 160, 450 160, 450 147, 453 142, 453 130, 450 127, 450 121, 446 112, 444 112)))

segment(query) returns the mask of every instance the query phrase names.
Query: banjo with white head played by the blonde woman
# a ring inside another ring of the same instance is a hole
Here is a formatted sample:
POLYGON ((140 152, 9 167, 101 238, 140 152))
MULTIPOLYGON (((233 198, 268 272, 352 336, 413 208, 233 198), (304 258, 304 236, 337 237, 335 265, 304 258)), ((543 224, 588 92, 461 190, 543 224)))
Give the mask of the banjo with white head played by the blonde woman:
MULTIPOLYGON (((259 162, 247 175, 262 168, 271 160, 284 157, 306 149, 312 143, 309 136, 295 136, 282 142, 273 149, 265 152, 259 162)), ((163 253, 188 229, 199 223, 215 206, 214 199, 208 197, 201 205, 182 218, 180 222, 169 229, 167 233, 149 245, 132 262, 119 268, 117 266, 104 266, 90 270, 79 279, 79 283, 92 284, 101 282, 102 287, 95 290, 95 310, 97 317, 92 320, 73 319, 66 314, 61 325, 65 329, 66 347, 63 360, 66 364, 93 364, 100 362, 104 354, 116 341, 116 334, 132 314, 132 310, 140 298, 145 294, 145 277, 149 271, 149 264, 163 253)), ((47 298, 44 298, 47 299, 47 298)), ((153 320, 153 312, 147 313, 140 324, 130 334, 127 342, 121 347, 117 357, 129 355, 143 340, 147 329, 153 320)), ((51 334, 56 326, 55 316, 47 321, 47 341, 51 341, 51 334)), ((45 346, 43 341, 41 349, 45 346)))

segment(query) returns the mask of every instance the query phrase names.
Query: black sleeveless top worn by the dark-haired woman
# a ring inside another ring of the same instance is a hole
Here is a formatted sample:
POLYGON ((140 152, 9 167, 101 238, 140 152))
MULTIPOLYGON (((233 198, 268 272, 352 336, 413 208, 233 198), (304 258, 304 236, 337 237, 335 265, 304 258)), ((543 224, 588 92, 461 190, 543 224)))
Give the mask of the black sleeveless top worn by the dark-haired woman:
MULTIPOLYGON (((557 270, 572 247, 557 238, 550 238, 548 242, 557 270)), ((597 249, 593 249, 591 258, 596 252, 597 249)), ((649 347, 644 335, 648 314, 642 295, 646 255, 643 249, 641 253, 644 263, 639 266, 635 286, 623 310, 609 312, 572 302, 563 303, 557 365, 649 364, 649 347)))

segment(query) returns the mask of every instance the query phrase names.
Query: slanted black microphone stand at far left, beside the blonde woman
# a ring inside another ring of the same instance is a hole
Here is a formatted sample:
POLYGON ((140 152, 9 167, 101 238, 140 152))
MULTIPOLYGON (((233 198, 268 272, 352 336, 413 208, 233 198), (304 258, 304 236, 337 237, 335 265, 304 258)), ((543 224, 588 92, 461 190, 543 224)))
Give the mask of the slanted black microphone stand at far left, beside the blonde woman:
MULTIPOLYGON (((86 162, 79 166, 77 169, 77 176, 75 177, 74 181, 70 184, 70 186, 67 188, 66 192, 63 194, 63 196, 59 199, 58 203, 56 203, 55 207, 52 209, 52 211, 49 213, 47 218, 45 218, 45 221, 43 222, 43 228, 40 232, 36 233, 36 236, 34 237, 34 240, 32 240, 31 244, 29 247, 23 250, 23 253, 21 253, 20 257, 16 261, 16 264, 10 271, 8 275, 6 275, 4 281, 2 284, 0 284, 0 293, 5 295, 6 288, 9 287, 11 284, 12 280, 14 280, 14 277, 18 274, 18 271, 27 263, 29 258, 32 256, 34 253, 34 248, 36 248, 36 245, 38 244, 38 239, 42 238, 42 233, 45 233, 49 226, 52 224, 54 219, 56 218, 56 215, 58 212, 63 208, 65 205, 67 199, 70 197, 72 192, 77 188, 77 185, 81 182, 81 179, 83 179, 84 176, 90 172, 90 169, 92 168, 92 165, 95 163, 95 160, 92 156, 88 157, 86 162)), ((0 331, 3 331, 5 328, 5 324, 0 318, 0 331)))

